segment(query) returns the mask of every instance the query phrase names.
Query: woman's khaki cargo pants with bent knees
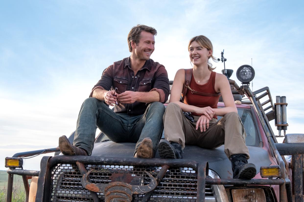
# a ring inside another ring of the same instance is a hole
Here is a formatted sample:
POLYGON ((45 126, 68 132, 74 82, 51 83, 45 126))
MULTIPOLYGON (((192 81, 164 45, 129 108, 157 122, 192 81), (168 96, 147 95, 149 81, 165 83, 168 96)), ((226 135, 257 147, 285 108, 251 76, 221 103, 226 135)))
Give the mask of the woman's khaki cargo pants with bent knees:
POLYGON ((219 121, 212 118, 205 132, 201 132, 200 128, 195 130, 198 119, 199 116, 194 116, 195 122, 192 123, 185 117, 178 104, 169 103, 163 117, 165 139, 181 144, 182 148, 186 144, 215 149, 225 144, 224 151, 229 159, 233 154, 245 154, 249 159, 249 151, 245 144, 246 132, 236 112, 225 114, 219 121))

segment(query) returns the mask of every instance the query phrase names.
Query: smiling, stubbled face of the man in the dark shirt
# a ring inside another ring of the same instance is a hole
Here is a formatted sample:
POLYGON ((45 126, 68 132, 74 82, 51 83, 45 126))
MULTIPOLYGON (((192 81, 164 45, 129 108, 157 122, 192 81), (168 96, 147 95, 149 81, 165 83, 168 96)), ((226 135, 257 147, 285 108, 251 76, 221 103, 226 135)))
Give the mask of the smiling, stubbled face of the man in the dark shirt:
POLYGON ((140 39, 138 44, 133 43, 132 52, 135 53, 137 58, 140 60, 149 60, 150 55, 154 51, 154 44, 154 35, 149 32, 142 31, 140 33, 140 39))

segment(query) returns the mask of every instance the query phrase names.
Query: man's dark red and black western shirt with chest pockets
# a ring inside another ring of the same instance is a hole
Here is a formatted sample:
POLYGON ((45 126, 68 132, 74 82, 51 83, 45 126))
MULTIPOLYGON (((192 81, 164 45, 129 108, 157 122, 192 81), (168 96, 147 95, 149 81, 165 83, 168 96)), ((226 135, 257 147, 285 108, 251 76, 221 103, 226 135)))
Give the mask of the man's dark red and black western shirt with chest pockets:
MULTIPOLYGON (((157 91, 162 103, 168 100, 170 90, 168 73, 164 65, 149 59, 143 65, 143 68, 134 75, 130 65, 130 57, 114 62, 113 65, 106 68, 102 73, 101 79, 93 87, 90 97, 92 97, 96 88, 107 91, 118 88, 121 93, 125 91, 157 91)), ((146 108, 146 103, 136 101, 133 104, 115 104, 114 112, 140 115, 146 111, 146 108)))

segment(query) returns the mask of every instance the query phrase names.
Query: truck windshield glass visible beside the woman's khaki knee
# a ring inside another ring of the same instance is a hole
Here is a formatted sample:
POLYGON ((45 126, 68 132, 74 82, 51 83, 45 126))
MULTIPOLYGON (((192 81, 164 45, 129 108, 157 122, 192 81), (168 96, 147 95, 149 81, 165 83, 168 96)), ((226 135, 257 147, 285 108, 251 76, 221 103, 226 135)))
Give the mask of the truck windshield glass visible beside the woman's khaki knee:
MULTIPOLYGON (((260 138, 259 138, 259 134, 257 132, 257 126, 255 124, 251 109, 238 108, 237 113, 239 114, 239 116, 242 120, 242 123, 244 125, 245 131, 247 134, 246 145, 259 147, 260 138)), ((222 118, 221 116, 217 116, 217 120, 220 120, 221 118, 222 118)))

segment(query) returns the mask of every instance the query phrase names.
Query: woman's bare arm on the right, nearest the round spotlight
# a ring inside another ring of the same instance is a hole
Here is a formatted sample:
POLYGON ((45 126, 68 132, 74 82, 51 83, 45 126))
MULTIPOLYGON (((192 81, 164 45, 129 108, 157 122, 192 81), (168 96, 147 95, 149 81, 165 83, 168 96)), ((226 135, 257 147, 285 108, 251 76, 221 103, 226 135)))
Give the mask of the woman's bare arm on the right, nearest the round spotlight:
POLYGON ((215 115, 224 116, 229 112, 237 112, 237 107, 234 103, 230 84, 225 75, 216 73, 215 90, 219 91, 222 94, 222 98, 225 104, 224 108, 215 109, 215 115))

